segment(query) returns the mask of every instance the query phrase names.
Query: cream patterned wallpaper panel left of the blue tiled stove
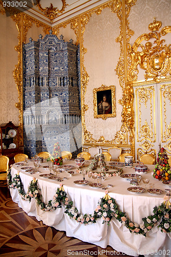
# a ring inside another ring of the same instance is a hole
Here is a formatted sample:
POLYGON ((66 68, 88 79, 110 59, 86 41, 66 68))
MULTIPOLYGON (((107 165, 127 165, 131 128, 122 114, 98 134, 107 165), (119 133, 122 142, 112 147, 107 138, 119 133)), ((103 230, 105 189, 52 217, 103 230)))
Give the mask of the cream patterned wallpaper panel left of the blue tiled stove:
POLYGON ((13 70, 17 64, 17 52, 14 47, 17 43, 17 29, 15 23, 5 14, 0 15, 0 124, 12 121, 19 124, 18 91, 13 78, 13 70))

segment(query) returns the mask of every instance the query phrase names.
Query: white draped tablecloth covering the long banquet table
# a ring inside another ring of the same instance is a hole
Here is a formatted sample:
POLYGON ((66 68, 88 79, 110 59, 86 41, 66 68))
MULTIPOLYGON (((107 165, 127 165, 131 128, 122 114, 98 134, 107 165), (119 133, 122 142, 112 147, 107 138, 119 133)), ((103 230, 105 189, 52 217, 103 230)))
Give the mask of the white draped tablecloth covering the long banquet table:
MULTIPOLYGON (((24 185, 25 192, 28 191, 30 182, 33 177, 37 179, 38 186, 41 189, 43 200, 46 204, 51 200, 57 190, 60 187, 59 181, 51 180, 49 178, 41 177, 41 174, 49 173, 49 170, 45 170, 43 167, 47 166, 47 162, 43 162, 39 171, 41 173, 30 174, 21 170, 22 166, 13 164, 11 168, 12 178, 18 171, 20 171, 20 177, 24 185)), ((83 179, 83 175, 76 172, 77 166, 74 160, 65 161, 66 165, 72 165, 74 168, 74 175, 70 176, 65 171, 60 173, 61 179, 67 177, 62 181, 63 188, 70 200, 73 201, 73 206, 77 207, 79 212, 83 215, 93 214, 94 210, 98 206, 98 201, 105 195, 104 188, 108 189, 110 197, 116 200, 119 210, 126 213, 126 216, 130 221, 142 224, 142 218, 148 215, 153 215, 153 209, 155 206, 163 203, 163 197, 166 194, 165 189, 171 189, 168 185, 164 185, 161 181, 155 179, 151 172, 154 169, 153 165, 147 165, 149 171, 147 174, 143 174, 142 178, 149 178, 149 183, 154 183, 155 188, 163 190, 160 195, 151 195, 147 191, 136 194, 129 192, 127 188, 132 187, 130 181, 121 178, 120 176, 106 177, 102 182, 101 188, 91 188, 88 185, 76 185, 75 180, 83 179), (108 185, 112 187, 108 188, 108 185)), ((86 161, 85 166, 90 164, 90 160, 86 161)), ((108 164, 108 162, 106 163, 108 164)), ((134 166, 137 165, 134 163, 134 166)), ((29 161, 29 167, 34 167, 33 162, 29 161)), ((86 167, 84 168, 86 169, 86 167)), ((134 168, 122 167, 122 174, 135 174, 134 168)), ((93 180, 85 176, 86 180, 93 180)), ((140 182, 140 187, 145 188, 144 183, 140 182)), ((149 184, 147 185, 149 188, 149 184)), ((35 216, 38 221, 43 221, 47 226, 52 226, 57 230, 66 231, 67 236, 79 238, 84 242, 88 242, 102 248, 106 248, 108 245, 116 251, 120 251, 123 254, 130 256, 170 256, 171 254, 171 233, 162 233, 161 229, 154 226, 146 234, 146 237, 142 234, 130 233, 130 231, 121 224, 115 217, 112 217, 109 226, 107 223, 102 224, 102 218, 97 219, 96 223, 90 225, 80 224, 73 218, 70 218, 68 214, 64 213, 65 206, 52 211, 43 211, 36 204, 36 200, 31 198, 31 202, 23 200, 21 195, 18 194, 17 189, 10 189, 12 200, 18 204, 28 215, 35 216)))

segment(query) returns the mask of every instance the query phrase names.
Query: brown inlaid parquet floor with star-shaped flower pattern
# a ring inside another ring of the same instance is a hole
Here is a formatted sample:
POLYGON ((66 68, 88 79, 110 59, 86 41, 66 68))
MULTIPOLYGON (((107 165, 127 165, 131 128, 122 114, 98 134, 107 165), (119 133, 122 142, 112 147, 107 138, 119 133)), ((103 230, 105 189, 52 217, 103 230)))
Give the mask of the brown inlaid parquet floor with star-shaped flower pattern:
POLYGON ((128 256, 66 236, 28 216, 13 203, 6 181, 0 181, 0 256, 128 256), (103 251, 102 251, 103 250, 103 251), (99 252, 99 254, 98 254, 99 252))

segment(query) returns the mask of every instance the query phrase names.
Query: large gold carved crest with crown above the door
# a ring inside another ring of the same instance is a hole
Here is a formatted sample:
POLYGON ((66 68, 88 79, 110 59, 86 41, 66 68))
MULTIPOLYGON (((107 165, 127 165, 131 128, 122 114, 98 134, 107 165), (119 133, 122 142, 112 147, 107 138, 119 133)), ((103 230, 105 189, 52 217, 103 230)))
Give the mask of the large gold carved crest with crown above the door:
POLYGON ((159 82, 171 75, 171 44, 163 45, 165 40, 161 39, 161 36, 171 32, 171 26, 166 26, 161 29, 161 32, 157 32, 161 25, 161 22, 154 18, 153 23, 148 25, 151 32, 140 35, 132 47, 128 44, 131 60, 127 76, 129 81, 137 80, 138 65, 145 70, 145 80, 152 79, 159 82), (154 39, 153 43, 150 41, 152 39, 154 39), (145 45, 142 44, 144 40, 147 41, 145 45))

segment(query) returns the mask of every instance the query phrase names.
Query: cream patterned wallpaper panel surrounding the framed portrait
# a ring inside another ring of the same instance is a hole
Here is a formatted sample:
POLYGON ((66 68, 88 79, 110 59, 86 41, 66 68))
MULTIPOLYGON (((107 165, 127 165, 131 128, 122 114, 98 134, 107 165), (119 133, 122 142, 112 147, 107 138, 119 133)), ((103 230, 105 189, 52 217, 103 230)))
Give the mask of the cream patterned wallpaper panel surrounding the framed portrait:
POLYGON ((120 56, 120 44, 116 43, 119 33, 119 19, 109 8, 102 10, 100 15, 93 14, 85 26, 84 47, 87 48, 87 53, 84 65, 89 75, 85 95, 85 104, 89 108, 85 113, 85 124, 94 139, 104 136, 106 140, 111 140, 121 127, 122 106, 118 100, 122 98, 122 88, 115 72, 120 56), (116 117, 106 120, 93 117, 92 91, 102 84, 116 87, 116 117))

